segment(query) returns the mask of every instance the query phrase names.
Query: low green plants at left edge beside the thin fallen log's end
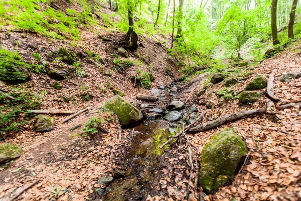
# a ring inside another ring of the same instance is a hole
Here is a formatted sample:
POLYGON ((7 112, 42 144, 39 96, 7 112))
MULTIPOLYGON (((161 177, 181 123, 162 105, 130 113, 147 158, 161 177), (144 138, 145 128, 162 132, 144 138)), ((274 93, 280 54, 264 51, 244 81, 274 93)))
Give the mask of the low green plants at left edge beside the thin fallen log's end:
POLYGON ((15 99, 9 100, 0 93, 0 134, 3 136, 17 133, 30 118, 27 110, 38 109, 41 105, 39 95, 22 88, 13 88, 8 94, 15 99))

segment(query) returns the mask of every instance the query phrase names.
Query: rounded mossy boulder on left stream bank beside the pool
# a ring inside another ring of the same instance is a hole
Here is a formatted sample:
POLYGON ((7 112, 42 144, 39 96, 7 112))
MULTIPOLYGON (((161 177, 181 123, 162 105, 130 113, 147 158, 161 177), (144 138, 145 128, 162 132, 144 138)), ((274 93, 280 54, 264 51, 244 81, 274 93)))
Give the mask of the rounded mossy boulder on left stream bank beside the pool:
POLYGON ((107 100, 104 109, 115 113, 122 125, 131 125, 143 118, 142 113, 120 95, 115 95, 107 100))

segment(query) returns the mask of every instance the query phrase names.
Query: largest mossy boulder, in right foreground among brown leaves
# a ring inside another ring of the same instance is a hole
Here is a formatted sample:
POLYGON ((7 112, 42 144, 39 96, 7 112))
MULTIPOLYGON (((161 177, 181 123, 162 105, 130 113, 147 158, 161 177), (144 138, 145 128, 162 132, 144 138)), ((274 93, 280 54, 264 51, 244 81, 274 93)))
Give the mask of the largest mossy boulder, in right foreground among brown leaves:
POLYGON ((206 192, 215 193, 233 178, 247 149, 233 129, 224 129, 214 135, 201 153, 199 181, 206 192))

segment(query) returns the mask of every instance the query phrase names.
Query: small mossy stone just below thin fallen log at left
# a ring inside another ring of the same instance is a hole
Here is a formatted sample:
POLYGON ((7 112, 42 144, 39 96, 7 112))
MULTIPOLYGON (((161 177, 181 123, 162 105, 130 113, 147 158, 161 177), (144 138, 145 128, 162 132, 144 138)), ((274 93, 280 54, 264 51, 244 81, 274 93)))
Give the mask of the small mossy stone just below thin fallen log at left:
POLYGON ((36 132, 47 132, 54 128, 54 119, 47 115, 38 115, 34 122, 36 132))

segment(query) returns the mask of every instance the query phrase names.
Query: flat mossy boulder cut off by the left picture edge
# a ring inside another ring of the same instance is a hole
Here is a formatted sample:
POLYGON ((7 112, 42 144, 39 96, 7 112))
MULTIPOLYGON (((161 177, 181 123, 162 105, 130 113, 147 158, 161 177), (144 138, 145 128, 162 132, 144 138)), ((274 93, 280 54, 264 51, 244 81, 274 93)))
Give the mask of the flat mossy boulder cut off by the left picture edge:
POLYGON ((9 162, 22 155, 22 148, 13 144, 0 144, 0 164, 9 162))

